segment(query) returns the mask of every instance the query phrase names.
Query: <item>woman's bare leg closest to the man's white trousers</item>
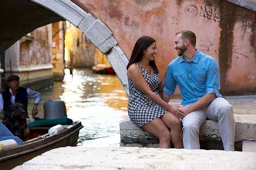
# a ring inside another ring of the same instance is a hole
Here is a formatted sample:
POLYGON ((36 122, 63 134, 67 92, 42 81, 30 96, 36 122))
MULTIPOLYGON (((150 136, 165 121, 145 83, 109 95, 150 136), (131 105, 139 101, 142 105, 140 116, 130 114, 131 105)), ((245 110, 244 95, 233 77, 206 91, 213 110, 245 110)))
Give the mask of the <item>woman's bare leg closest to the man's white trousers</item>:
POLYGON ((170 134, 172 135, 172 142, 174 144, 174 148, 183 148, 183 140, 182 140, 182 130, 181 130, 181 122, 178 117, 171 114, 169 111, 161 117, 162 121, 166 126, 170 129, 170 134))

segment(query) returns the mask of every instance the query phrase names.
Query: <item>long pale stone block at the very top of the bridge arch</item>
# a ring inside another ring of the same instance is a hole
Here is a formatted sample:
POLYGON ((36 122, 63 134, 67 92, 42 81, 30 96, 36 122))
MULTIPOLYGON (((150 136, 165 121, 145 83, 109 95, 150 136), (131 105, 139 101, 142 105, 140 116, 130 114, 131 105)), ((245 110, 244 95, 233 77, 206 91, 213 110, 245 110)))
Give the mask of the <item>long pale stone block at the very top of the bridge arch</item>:
POLYGON ((38 3, 39 5, 52 10, 56 14, 74 24, 76 27, 87 15, 86 11, 78 7, 78 5, 70 0, 32 0, 32 2, 38 3))

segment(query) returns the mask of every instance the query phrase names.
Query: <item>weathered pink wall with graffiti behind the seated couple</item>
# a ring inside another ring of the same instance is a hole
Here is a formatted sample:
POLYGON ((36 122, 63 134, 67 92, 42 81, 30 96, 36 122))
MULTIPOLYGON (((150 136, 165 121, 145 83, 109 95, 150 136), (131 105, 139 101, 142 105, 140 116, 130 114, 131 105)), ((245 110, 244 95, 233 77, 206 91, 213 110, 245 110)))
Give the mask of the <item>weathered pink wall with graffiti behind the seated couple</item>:
POLYGON ((112 30, 128 58, 139 36, 155 37, 161 75, 176 57, 175 32, 192 30, 197 48, 218 61, 225 95, 256 92, 256 13, 251 10, 222 0, 72 1, 112 30))

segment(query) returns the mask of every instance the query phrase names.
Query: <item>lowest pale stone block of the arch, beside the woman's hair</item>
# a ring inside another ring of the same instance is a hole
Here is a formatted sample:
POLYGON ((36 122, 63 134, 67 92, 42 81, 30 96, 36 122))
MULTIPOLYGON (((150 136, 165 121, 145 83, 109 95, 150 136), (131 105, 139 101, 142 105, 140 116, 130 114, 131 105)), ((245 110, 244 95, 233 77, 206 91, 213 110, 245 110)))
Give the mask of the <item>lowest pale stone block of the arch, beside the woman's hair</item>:
POLYGON ((107 54, 107 58, 123 86, 127 86, 127 71, 124 68, 126 68, 129 61, 123 51, 118 46, 114 46, 111 52, 107 54))

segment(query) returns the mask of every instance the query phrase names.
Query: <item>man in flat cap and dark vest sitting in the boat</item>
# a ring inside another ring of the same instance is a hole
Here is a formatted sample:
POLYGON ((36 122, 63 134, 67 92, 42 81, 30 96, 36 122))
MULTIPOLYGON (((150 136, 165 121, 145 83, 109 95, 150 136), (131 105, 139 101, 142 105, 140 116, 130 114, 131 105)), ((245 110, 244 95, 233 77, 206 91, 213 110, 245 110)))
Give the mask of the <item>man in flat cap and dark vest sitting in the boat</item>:
MULTIPOLYGON (((7 79, 9 88, 0 94, 0 112, 4 110, 4 121, 7 116, 6 113, 9 106, 14 103, 21 103, 25 106, 27 111, 28 108, 28 98, 35 98, 34 106, 32 109, 32 117, 38 113, 38 103, 41 100, 41 95, 39 92, 33 91, 31 89, 25 89, 19 86, 20 77, 17 75, 10 75, 7 79)), ((27 116, 28 117, 28 116, 27 116)))

